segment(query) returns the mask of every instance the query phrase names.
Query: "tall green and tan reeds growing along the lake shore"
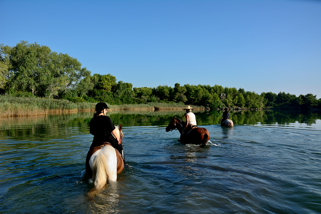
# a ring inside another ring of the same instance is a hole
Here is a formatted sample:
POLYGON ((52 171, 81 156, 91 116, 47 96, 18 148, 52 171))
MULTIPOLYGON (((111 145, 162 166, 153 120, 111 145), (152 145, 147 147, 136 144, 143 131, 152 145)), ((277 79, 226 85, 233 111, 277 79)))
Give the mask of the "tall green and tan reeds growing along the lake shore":
MULTIPOLYGON (((113 110, 180 110, 185 107, 181 103, 146 103, 110 105, 113 110)), ((96 103, 73 103, 68 100, 56 100, 39 97, 13 97, 0 95, 0 117, 34 116, 52 112, 94 111, 96 103)), ((204 109, 203 106, 192 106, 204 109)))

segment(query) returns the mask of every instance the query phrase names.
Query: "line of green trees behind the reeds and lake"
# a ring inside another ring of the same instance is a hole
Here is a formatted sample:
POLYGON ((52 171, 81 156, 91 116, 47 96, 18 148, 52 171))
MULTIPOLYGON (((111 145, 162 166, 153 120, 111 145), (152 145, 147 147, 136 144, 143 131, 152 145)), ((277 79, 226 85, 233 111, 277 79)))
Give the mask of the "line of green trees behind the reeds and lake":
POLYGON ((67 99, 73 102, 106 102, 109 104, 140 104, 149 102, 184 103, 222 107, 264 108, 300 107, 320 108, 317 95, 280 92, 245 91, 244 88, 221 85, 180 85, 174 87, 134 87, 117 81, 107 74, 93 74, 68 54, 53 52, 38 43, 20 41, 16 46, 0 45, 0 93, 13 96, 67 99), (225 94, 221 100, 221 94, 225 94))

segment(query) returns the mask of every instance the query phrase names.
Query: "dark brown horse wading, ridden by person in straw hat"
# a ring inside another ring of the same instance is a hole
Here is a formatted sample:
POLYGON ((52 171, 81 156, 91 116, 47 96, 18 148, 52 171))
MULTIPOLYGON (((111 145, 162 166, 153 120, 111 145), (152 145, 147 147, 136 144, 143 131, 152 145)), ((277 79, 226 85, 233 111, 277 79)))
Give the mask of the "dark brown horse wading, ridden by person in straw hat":
POLYGON ((185 144, 201 144, 200 147, 204 147, 207 143, 207 141, 210 139, 210 133, 205 128, 194 128, 191 130, 188 130, 185 135, 182 135, 182 130, 184 129, 186 123, 176 117, 169 123, 169 125, 166 127, 166 131, 172 131, 174 129, 177 129, 180 135, 180 139, 182 143, 185 144))

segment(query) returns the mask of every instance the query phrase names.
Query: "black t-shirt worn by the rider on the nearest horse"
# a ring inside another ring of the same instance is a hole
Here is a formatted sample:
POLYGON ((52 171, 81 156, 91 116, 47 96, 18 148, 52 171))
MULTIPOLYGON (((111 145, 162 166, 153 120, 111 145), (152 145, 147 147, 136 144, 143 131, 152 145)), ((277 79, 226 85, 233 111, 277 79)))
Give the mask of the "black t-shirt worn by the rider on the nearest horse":
POLYGON ((92 144, 95 146, 99 144, 98 146, 100 146, 101 142, 114 142, 116 139, 111 134, 114 129, 115 126, 108 116, 93 117, 90 120, 90 133, 94 136, 92 144))

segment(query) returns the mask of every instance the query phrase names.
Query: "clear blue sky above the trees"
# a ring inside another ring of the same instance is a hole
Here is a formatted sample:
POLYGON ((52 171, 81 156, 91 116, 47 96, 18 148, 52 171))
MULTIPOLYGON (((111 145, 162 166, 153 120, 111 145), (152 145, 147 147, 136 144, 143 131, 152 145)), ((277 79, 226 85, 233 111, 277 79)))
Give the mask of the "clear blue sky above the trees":
POLYGON ((321 1, 3 1, 0 43, 37 42, 133 87, 321 98, 321 1))

